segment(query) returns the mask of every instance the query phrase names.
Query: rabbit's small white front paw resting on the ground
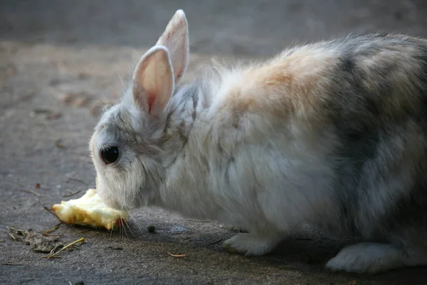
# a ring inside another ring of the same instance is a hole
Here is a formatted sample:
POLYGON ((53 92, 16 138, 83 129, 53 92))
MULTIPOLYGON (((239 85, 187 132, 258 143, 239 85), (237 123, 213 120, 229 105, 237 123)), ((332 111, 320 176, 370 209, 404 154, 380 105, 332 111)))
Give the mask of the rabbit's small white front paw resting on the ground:
POLYGON ((283 237, 270 237, 258 234, 237 234, 224 242, 223 247, 229 252, 249 255, 268 254, 283 237))

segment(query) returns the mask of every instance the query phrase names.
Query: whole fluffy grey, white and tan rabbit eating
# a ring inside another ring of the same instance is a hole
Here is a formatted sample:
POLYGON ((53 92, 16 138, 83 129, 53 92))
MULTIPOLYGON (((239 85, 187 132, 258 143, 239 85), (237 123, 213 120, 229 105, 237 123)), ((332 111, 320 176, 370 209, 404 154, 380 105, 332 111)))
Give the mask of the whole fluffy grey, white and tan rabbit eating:
POLYGON ((327 270, 427 265, 425 39, 352 34, 181 81, 188 63, 178 10, 90 138, 105 204, 246 229, 223 246, 247 256, 308 225, 364 240, 327 270))

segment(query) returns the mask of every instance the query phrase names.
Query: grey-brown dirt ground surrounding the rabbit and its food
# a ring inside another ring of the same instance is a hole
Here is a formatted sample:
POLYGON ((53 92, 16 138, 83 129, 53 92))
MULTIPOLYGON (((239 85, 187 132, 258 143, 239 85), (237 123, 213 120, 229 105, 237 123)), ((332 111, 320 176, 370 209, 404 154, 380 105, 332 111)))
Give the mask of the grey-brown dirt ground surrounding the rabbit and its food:
POLYGON ((189 21, 188 79, 212 56, 265 57, 347 33, 427 36, 425 1, 1 0, 0 7, 0 284, 427 284, 426 268, 327 271, 327 259, 353 241, 309 230, 266 257, 229 254, 220 239, 233 232, 161 209, 135 210, 126 232, 61 225, 51 234, 86 242, 60 259, 8 234, 8 226, 50 229, 58 221, 43 206, 94 185, 88 139, 97 109, 117 100, 120 78, 176 9, 189 21))

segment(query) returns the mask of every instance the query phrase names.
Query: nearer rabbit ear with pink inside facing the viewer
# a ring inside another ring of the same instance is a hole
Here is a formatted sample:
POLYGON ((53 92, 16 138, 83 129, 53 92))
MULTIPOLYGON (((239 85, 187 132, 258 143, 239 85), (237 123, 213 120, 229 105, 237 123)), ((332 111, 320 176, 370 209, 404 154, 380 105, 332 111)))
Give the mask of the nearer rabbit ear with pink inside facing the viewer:
POLYGON ((169 51, 153 46, 139 60, 132 77, 133 99, 139 110, 162 111, 174 91, 174 71, 169 51))

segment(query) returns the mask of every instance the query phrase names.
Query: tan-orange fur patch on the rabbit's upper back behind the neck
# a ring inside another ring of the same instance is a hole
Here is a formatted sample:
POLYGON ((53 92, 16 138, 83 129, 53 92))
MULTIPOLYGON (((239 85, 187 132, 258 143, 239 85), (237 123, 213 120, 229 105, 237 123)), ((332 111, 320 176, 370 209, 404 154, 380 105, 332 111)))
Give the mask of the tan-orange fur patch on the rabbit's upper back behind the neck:
POLYGON ((314 57, 312 51, 301 49, 265 65, 247 68, 228 88, 224 108, 231 111, 234 120, 246 113, 280 120, 295 115, 314 120, 312 123, 325 120, 317 106, 327 94, 325 77, 334 68, 335 60, 330 51, 315 53, 314 57))

